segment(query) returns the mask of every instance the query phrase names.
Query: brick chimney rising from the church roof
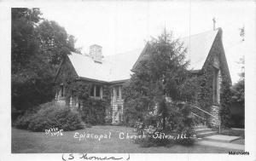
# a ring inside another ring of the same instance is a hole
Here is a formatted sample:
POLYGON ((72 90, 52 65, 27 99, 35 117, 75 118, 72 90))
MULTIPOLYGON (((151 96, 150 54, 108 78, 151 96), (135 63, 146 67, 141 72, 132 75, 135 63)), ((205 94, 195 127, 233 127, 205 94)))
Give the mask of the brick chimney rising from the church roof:
POLYGON ((90 57, 97 63, 102 63, 102 46, 93 44, 90 45, 90 57))

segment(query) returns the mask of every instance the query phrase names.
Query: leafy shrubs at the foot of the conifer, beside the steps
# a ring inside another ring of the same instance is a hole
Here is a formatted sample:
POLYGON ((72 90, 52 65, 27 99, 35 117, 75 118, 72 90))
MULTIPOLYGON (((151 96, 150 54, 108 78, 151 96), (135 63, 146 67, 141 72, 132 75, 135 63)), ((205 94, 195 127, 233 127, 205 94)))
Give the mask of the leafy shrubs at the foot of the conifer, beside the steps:
POLYGON ((136 141, 141 147, 169 147, 175 144, 193 145, 195 141, 193 137, 195 134, 193 129, 195 120, 190 114, 191 107, 187 104, 167 106, 170 112, 168 112, 166 117, 166 128, 163 126, 164 122, 160 114, 148 115, 143 119, 143 122, 137 123, 137 135, 147 134, 146 138, 136 141), (179 139, 177 139, 178 135, 179 139), (181 135, 186 135, 186 138, 181 138, 181 135))

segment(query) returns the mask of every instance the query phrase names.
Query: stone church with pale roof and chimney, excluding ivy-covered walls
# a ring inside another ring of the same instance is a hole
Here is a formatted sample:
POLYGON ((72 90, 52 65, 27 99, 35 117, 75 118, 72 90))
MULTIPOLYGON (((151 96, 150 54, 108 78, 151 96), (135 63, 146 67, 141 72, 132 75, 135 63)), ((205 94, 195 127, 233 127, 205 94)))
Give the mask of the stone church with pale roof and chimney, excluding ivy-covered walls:
MULTIPOLYGON (((222 81, 231 84, 229 67, 224 54, 222 43, 222 29, 201 32, 189 37, 180 38, 187 48, 187 59, 190 61, 189 71, 195 74, 204 74, 210 69, 212 72, 211 98, 209 113, 216 118, 209 118, 211 124, 219 124, 219 102, 222 81)), ((96 100, 109 100, 106 106, 106 118, 110 118, 112 124, 124 121, 124 99, 122 86, 131 78, 131 69, 137 66, 140 60, 148 53, 148 43, 142 49, 134 49, 118 55, 104 55, 102 46, 94 44, 90 46, 89 55, 72 53, 68 59, 61 62, 61 66, 55 79, 61 82, 61 75, 71 75, 84 83, 93 84, 90 89, 90 98, 96 100), (72 68, 72 73, 67 73, 66 67, 72 68)), ((58 84, 55 101, 67 104, 65 83, 58 84)), ((70 97, 68 106, 83 108, 79 99, 70 97)))

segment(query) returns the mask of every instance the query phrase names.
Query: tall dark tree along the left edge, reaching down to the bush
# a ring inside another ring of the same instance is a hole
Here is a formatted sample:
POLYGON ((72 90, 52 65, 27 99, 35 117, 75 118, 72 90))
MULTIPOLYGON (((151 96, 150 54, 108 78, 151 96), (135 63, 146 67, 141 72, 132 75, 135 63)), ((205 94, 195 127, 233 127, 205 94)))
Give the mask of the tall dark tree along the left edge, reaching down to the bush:
POLYGON ((12 9, 12 48, 11 48, 11 73, 12 73, 12 106, 23 109, 31 106, 31 96, 36 96, 34 88, 38 78, 38 34, 36 26, 40 18, 39 9, 12 9), (31 91, 29 95, 27 95, 31 91), (30 102, 28 100, 31 100, 30 102))

